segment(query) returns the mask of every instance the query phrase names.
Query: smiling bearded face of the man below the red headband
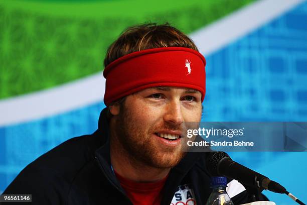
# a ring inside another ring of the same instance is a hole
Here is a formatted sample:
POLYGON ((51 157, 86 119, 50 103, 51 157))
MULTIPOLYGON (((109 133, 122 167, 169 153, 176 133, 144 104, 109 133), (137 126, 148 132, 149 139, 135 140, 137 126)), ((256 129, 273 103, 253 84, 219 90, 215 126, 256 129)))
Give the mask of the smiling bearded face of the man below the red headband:
POLYGON ((201 97, 197 90, 180 87, 153 87, 128 95, 117 107, 118 142, 129 157, 148 166, 174 167, 184 156, 185 122, 201 120, 201 97))

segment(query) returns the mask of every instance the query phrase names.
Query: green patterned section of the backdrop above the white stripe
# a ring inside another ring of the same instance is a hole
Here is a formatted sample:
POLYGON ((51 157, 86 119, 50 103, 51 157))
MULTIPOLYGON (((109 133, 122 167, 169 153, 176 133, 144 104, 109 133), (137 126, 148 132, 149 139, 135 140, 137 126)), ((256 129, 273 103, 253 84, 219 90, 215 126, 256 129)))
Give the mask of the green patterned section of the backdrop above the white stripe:
POLYGON ((176 7, 172 1, 160 0, 149 3, 148 7, 142 1, 133 1, 138 6, 132 8, 129 1, 115 1, 111 5, 81 1, 73 7, 58 3, 60 14, 56 14, 57 4, 46 2, 0 3, 0 62, 3 65, 0 98, 49 88, 101 71, 107 47, 128 26, 168 21, 191 33, 252 1, 179 1, 176 7), (161 8, 159 2, 171 5, 164 4, 161 8), (83 9, 86 6, 101 11, 93 17, 92 10, 83 9), (36 7, 37 11, 30 11, 36 7), (47 14, 45 7, 49 10, 47 14))

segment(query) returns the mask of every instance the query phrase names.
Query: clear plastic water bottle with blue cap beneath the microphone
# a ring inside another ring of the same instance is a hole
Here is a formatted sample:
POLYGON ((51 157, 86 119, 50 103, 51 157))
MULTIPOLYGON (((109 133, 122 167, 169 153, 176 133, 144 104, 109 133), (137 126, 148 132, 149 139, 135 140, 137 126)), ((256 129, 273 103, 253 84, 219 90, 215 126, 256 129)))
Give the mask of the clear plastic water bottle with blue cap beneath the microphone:
POLYGON ((226 192, 227 178, 216 176, 211 178, 213 191, 209 196, 206 205, 234 205, 226 192))

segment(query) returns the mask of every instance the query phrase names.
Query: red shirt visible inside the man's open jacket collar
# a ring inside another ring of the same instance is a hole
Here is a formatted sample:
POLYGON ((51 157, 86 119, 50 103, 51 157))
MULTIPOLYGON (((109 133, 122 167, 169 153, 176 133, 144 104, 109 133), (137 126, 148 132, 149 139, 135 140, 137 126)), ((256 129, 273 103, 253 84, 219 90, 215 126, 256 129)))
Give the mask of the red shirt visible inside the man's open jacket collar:
POLYGON ((160 205, 161 190, 168 176, 157 182, 135 182, 114 173, 133 205, 160 205))

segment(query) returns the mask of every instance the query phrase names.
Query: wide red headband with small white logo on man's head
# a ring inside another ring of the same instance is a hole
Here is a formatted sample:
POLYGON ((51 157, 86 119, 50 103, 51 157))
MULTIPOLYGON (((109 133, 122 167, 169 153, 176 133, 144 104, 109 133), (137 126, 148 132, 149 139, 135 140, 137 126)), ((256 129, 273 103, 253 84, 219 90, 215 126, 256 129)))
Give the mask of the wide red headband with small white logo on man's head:
POLYGON ((133 52, 110 63, 104 104, 136 91, 156 86, 175 86, 206 92, 206 60, 199 52, 183 47, 164 47, 133 52))

